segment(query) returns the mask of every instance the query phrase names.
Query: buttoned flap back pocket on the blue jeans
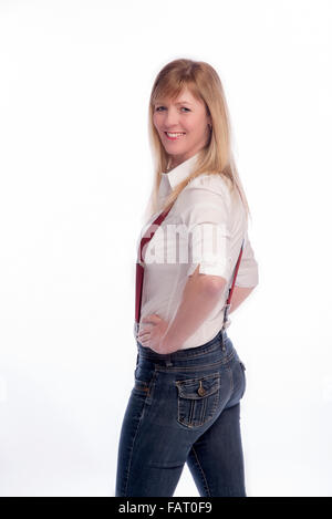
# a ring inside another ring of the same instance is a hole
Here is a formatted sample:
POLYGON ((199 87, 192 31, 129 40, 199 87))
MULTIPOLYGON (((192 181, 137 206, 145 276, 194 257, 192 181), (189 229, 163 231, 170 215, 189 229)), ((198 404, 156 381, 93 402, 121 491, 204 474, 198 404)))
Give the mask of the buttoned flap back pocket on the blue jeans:
POLYGON ((186 427, 200 427, 210 421, 219 403, 220 373, 175 382, 178 390, 177 421, 186 427))

